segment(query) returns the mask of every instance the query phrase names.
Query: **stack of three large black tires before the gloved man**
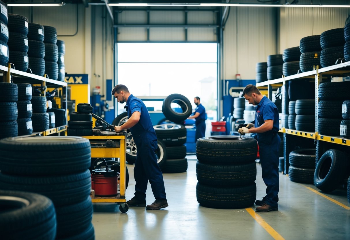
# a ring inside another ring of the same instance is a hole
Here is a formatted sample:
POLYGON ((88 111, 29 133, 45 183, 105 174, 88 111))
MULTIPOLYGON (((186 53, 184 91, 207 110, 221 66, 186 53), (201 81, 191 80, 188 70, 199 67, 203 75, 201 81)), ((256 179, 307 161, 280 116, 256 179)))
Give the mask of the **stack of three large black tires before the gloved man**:
POLYGON ((197 202, 239 209, 254 204, 258 144, 251 137, 213 136, 197 140, 197 202))

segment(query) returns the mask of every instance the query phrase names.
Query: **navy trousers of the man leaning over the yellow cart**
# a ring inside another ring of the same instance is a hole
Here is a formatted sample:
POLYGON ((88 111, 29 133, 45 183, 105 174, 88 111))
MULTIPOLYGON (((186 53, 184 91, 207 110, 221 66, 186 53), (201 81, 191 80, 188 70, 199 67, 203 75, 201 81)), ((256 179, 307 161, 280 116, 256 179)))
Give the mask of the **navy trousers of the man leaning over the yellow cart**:
POLYGON ((160 170, 155 151, 157 139, 155 134, 144 133, 133 136, 137 146, 137 154, 134 167, 135 197, 140 201, 146 201, 146 190, 148 181, 151 183, 154 198, 166 199, 163 174, 160 170))

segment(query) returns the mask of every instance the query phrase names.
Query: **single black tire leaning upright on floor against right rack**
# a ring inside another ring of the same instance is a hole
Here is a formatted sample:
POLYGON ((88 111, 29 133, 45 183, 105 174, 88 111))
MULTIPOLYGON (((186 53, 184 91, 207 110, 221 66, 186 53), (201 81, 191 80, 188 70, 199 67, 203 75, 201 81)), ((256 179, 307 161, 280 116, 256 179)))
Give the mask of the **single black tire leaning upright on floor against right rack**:
POLYGON ((348 165, 348 157, 342 151, 336 149, 326 151, 316 166, 314 175, 316 188, 324 192, 335 190, 343 181, 348 165))

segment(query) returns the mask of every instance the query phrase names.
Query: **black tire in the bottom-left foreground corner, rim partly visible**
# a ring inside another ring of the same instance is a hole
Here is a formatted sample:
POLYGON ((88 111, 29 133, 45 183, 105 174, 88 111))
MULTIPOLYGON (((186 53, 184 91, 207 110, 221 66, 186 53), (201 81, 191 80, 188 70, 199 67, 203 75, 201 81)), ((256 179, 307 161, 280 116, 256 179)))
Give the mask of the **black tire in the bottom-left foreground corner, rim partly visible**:
POLYGON ((1 238, 55 239, 56 214, 52 201, 42 195, 0 190, 1 238))

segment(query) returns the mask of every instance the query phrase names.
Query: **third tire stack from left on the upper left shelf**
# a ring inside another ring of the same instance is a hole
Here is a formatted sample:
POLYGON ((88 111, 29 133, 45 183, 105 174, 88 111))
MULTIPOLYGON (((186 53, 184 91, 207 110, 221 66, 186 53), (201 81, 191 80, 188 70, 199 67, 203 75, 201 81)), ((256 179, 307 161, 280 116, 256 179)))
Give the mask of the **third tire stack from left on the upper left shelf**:
POLYGON ((45 44, 44 26, 37 23, 29 23, 29 68, 33 74, 44 76, 45 73, 45 44))

